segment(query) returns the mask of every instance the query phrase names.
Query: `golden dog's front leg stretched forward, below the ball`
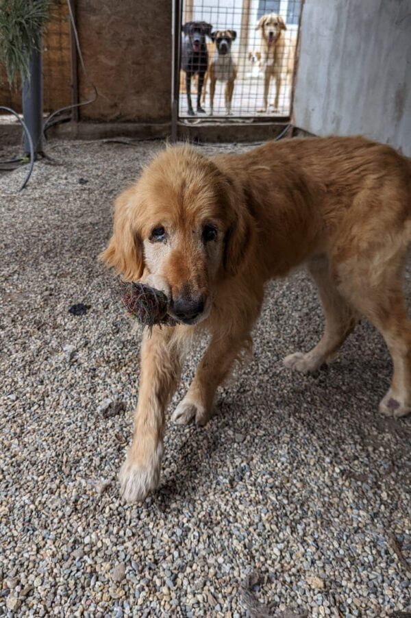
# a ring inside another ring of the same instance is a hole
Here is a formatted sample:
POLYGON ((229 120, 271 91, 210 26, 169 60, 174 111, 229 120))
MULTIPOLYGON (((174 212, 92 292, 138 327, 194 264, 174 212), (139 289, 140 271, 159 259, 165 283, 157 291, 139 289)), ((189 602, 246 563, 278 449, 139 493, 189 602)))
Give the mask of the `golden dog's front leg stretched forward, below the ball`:
POLYGON ((177 387, 181 355, 173 343, 173 327, 145 332, 134 435, 119 479, 127 502, 143 500, 158 486, 163 454, 164 411, 177 387))

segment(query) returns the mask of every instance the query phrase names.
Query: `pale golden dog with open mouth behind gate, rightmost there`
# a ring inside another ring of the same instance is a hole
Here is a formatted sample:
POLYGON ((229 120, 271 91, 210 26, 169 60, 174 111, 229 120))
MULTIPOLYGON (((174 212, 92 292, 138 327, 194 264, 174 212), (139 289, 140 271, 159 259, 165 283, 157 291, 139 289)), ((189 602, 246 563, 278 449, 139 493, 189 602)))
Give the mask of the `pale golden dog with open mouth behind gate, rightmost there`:
POLYGON ((262 62, 264 64, 264 105, 258 110, 266 112, 269 108, 271 78, 275 79, 275 99, 273 106, 278 110, 279 92, 286 81, 290 82, 294 69, 295 41, 285 38, 287 27, 277 13, 263 15, 257 24, 262 38, 262 62))

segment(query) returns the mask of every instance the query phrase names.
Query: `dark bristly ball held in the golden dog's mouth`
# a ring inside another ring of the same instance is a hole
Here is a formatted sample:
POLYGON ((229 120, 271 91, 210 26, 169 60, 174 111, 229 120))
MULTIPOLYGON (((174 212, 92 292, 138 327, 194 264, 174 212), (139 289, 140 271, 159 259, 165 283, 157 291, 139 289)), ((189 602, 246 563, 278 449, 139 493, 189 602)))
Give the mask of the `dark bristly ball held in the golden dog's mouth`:
POLYGON ((122 301, 127 313, 150 330, 156 324, 174 326, 176 323, 167 313, 169 299, 164 292, 151 286, 143 283, 126 284, 122 301))

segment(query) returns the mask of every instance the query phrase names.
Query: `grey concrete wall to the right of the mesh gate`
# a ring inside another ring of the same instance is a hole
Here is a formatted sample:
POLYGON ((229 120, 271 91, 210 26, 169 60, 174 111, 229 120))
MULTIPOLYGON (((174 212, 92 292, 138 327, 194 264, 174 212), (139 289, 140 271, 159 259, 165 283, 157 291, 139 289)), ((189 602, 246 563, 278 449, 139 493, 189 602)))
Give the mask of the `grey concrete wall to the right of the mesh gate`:
POLYGON ((293 110, 310 133, 411 156, 410 0, 306 0, 293 110))

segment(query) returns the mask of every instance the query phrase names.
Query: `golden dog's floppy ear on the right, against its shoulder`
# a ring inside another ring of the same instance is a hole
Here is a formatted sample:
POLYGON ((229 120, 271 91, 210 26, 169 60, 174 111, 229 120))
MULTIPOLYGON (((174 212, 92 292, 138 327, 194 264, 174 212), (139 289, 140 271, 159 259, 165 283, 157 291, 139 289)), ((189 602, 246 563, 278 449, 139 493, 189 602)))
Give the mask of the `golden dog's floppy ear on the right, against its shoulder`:
POLYGON ((224 238, 223 266, 234 277, 245 263, 256 236, 256 224, 245 201, 232 201, 233 219, 224 238))

